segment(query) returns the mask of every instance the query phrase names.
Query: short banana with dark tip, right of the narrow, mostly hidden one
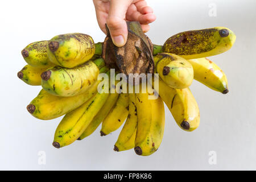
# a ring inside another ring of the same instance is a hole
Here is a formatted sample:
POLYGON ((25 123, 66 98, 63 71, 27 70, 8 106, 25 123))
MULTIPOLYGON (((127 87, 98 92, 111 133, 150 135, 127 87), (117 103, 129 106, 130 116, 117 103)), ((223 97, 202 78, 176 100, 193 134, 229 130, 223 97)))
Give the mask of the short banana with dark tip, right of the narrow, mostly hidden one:
POLYGON ((118 100, 102 122, 101 136, 108 135, 117 130, 128 115, 129 97, 127 93, 119 94, 118 100))

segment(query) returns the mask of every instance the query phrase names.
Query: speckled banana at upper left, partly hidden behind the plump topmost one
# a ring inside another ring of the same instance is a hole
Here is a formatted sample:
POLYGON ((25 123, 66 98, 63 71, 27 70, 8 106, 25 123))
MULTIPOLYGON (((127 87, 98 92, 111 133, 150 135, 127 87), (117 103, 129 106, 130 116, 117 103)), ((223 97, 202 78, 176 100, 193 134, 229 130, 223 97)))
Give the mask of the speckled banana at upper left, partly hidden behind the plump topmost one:
POLYGON ((49 68, 53 67, 55 64, 49 61, 47 56, 47 47, 48 41, 38 41, 31 44, 28 44, 22 50, 22 56, 27 64, 31 65, 32 67, 37 68, 49 68))

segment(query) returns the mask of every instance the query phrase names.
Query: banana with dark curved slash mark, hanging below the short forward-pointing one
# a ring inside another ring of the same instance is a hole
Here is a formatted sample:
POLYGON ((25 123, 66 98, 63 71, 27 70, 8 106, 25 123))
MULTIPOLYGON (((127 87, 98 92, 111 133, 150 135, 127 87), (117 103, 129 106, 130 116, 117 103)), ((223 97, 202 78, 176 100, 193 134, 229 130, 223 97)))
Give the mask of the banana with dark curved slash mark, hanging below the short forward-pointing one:
POLYGON ((177 125, 185 131, 197 129, 200 124, 199 107, 190 89, 174 89, 159 79, 158 90, 177 125))

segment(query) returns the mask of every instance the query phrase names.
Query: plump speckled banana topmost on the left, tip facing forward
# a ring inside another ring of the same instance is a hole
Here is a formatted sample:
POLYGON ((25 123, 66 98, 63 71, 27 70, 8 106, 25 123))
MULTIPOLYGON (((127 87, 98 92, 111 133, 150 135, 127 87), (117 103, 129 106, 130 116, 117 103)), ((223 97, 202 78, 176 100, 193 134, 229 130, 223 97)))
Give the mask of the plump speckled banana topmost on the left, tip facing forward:
POLYGON ((57 35, 49 40, 49 60, 64 68, 73 68, 90 60, 95 52, 91 36, 80 33, 57 35))

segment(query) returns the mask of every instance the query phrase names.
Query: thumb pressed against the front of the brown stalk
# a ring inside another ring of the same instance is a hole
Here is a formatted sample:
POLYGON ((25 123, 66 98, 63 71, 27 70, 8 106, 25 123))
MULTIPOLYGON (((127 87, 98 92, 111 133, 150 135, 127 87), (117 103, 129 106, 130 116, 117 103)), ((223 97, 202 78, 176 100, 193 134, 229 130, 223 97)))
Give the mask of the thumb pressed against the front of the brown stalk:
POLYGON ((125 45, 127 40, 127 24, 125 21, 126 11, 131 5, 132 0, 111 0, 109 15, 106 20, 109 32, 115 46, 125 45))

